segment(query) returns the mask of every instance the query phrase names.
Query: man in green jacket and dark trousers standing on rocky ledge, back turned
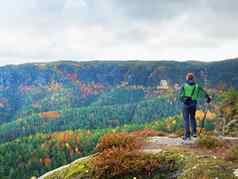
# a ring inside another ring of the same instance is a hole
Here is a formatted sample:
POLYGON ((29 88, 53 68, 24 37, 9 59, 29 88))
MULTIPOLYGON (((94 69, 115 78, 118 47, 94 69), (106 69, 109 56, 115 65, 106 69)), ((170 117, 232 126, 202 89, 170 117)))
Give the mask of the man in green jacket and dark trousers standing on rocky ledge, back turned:
POLYGON ((190 136, 197 137, 197 124, 195 119, 197 100, 200 97, 206 97, 207 103, 211 102, 211 98, 207 92, 195 83, 192 73, 186 75, 186 83, 180 91, 180 99, 183 102, 183 118, 184 118, 184 141, 189 141, 190 136), (192 133, 190 133, 190 122, 192 133))

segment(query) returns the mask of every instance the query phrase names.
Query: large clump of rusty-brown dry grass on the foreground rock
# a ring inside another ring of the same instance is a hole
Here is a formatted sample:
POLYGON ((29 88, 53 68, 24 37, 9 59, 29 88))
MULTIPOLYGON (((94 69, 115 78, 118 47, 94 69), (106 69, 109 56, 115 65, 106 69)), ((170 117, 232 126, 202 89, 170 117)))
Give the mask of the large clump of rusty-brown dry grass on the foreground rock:
POLYGON ((112 133, 103 136, 97 145, 99 153, 90 161, 94 178, 148 178, 154 171, 169 171, 175 164, 174 160, 167 160, 165 156, 156 154, 145 154, 140 150, 143 137, 154 134, 157 135, 147 130, 141 133, 112 133))

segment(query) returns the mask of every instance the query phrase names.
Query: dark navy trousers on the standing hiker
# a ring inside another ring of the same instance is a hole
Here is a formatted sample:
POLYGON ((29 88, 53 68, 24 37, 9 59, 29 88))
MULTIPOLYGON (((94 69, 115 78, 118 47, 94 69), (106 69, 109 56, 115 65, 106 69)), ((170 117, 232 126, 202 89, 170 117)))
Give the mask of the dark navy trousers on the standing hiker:
POLYGON ((190 138, 190 123, 192 128, 192 135, 196 135, 197 123, 195 119, 196 103, 183 106, 183 119, 184 119, 184 139, 190 138))

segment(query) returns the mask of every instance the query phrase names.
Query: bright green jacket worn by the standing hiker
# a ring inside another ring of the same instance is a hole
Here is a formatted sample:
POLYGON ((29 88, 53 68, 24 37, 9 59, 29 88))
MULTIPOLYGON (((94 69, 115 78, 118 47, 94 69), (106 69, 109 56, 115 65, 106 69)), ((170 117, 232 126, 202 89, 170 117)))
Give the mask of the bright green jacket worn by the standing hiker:
POLYGON ((180 91, 180 100, 183 101, 185 97, 191 97, 192 101, 197 101, 201 97, 208 97, 207 92, 196 83, 185 83, 180 91))

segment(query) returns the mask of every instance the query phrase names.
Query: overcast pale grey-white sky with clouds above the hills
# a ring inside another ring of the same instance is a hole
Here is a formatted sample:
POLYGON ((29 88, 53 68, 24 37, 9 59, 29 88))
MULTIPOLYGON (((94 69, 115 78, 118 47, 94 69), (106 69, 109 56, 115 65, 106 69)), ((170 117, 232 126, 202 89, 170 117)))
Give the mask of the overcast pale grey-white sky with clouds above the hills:
POLYGON ((0 2, 0 65, 238 57, 238 0, 0 2))

